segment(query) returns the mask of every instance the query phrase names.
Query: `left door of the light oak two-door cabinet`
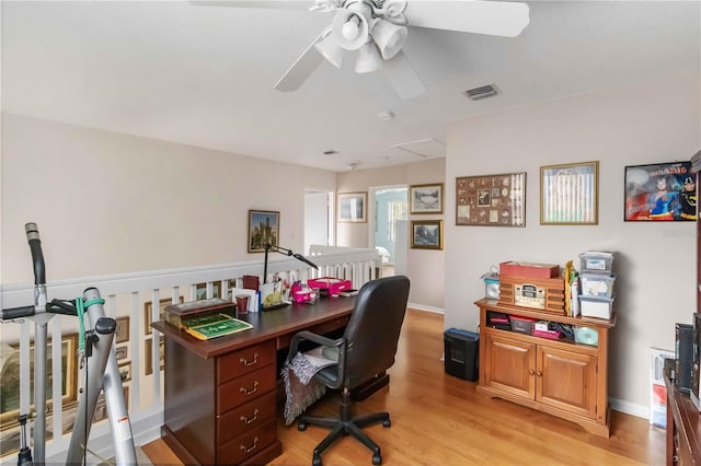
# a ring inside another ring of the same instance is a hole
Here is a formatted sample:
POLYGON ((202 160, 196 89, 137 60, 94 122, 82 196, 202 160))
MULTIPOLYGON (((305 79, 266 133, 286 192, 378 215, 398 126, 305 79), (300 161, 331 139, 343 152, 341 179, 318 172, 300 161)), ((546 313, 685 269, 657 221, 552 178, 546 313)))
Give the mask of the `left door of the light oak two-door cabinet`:
POLYGON ((485 363, 486 385, 535 398, 535 345, 487 334, 485 363))

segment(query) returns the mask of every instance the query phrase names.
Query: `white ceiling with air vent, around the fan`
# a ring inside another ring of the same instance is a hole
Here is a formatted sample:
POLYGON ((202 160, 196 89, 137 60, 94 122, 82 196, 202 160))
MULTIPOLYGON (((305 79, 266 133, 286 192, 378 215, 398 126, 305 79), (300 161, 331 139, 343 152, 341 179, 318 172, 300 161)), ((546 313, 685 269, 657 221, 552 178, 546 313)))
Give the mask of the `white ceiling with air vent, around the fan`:
POLYGON ((528 4, 517 38, 411 27, 404 51, 427 91, 402 101, 381 71, 355 74, 352 59, 322 63, 296 92, 273 89, 327 13, 2 1, 2 109, 345 171, 424 160, 395 145, 445 142, 451 120, 699 69, 699 1, 528 4), (496 97, 461 94, 491 83, 496 97))

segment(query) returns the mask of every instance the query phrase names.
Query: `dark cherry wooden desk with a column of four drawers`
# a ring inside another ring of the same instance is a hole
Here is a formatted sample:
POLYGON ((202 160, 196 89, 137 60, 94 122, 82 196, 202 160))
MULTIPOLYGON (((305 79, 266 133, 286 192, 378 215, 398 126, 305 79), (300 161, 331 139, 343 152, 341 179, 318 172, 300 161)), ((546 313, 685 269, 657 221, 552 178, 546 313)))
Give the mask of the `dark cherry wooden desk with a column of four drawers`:
POLYGON ((159 321, 165 336, 163 440, 185 464, 265 464, 277 439, 277 350, 296 333, 345 327, 355 298, 244 314, 253 328, 208 341, 159 321))

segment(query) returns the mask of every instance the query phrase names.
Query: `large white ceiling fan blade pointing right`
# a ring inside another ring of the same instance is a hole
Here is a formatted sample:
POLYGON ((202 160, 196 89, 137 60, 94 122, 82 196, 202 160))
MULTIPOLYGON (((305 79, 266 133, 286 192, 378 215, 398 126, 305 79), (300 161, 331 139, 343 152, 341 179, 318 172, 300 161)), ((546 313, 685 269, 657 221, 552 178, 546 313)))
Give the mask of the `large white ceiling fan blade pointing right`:
POLYGON ((516 37, 530 22, 526 3, 481 0, 407 1, 409 25, 516 37))

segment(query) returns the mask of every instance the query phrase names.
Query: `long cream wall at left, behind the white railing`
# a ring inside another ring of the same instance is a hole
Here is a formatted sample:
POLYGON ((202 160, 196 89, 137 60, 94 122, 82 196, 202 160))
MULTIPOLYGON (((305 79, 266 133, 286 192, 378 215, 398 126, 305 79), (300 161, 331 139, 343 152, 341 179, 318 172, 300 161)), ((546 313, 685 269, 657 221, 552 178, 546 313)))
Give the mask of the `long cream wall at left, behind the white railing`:
POLYGON ((3 284, 33 281, 30 221, 47 280, 225 264, 262 258, 249 209, 279 211, 280 244, 302 251, 304 189, 335 189, 333 172, 2 117, 3 284))

